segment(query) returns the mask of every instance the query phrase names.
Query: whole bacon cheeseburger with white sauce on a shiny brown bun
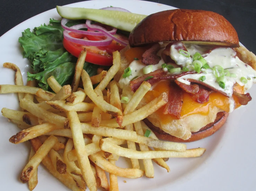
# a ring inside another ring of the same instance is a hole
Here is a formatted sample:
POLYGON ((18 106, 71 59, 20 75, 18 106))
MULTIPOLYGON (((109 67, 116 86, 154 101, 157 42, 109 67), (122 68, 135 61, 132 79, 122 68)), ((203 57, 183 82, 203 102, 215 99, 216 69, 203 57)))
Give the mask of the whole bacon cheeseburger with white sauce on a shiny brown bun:
POLYGON ((144 119, 160 139, 208 137, 251 100, 245 91, 256 82, 256 56, 239 46, 236 30, 218 13, 151 14, 130 33, 129 44, 115 80, 128 99, 143 81, 151 84, 138 109, 168 93, 168 103, 144 119))

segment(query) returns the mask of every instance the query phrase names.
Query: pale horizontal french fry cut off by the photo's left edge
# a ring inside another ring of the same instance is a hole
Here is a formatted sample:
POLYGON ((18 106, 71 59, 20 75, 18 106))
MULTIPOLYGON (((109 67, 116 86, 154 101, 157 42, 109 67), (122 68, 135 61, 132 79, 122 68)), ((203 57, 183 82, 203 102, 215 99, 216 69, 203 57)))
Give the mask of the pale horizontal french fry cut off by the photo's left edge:
POLYGON ((36 94, 39 88, 17 85, 0 85, 0 93, 31 93, 36 94))

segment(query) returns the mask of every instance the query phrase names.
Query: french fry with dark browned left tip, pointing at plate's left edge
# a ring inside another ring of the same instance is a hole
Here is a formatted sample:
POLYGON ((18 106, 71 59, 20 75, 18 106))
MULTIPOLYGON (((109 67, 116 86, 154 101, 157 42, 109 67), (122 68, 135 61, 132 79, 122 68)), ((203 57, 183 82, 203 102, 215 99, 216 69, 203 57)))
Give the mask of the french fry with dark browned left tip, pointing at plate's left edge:
POLYGON ((9 141, 14 144, 25 142, 29 139, 33 139, 35 137, 38 137, 40 135, 43 135, 47 132, 60 129, 62 127, 59 127, 52 123, 43 123, 41 125, 36 125, 34 127, 30 127, 28 129, 22 130, 18 132, 16 135, 13 135, 9 141))

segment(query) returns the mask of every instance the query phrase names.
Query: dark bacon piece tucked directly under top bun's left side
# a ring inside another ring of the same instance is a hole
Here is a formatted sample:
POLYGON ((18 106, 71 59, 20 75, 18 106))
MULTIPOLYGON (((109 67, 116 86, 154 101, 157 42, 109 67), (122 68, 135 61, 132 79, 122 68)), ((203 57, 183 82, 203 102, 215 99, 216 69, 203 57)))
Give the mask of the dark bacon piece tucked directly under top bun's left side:
POLYGON ((161 57, 157 56, 157 52, 160 50, 160 48, 161 47, 158 43, 154 44, 142 54, 141 62, 146 65, 158 64, 158 62, 161 60, 161 57))

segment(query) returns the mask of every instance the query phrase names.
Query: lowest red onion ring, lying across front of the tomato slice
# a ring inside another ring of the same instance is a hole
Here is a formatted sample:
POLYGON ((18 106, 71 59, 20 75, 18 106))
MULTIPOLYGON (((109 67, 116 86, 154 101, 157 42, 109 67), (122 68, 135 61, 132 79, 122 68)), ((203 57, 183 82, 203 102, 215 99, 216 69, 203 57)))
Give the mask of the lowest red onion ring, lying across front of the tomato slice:
POLYGON ((71 37, 69 35, 71 31, 67 31, 67 30, 64 30, 63 31, 63 36, 65 39, 71 41, 71 42, 74 42, 74 43, 77 43, 77 44, 82 44, 84 46, 96 46, 96 47, 100 47, 100 46, 108 46, 109 44, 112 43, 112 39, 107 37, 107 39, 105 40, 98 40, 98 41, 94 41, 94 40, 85 40, 85 39, 77 39, 77 38, 74 38, 74 37, 71 37))

